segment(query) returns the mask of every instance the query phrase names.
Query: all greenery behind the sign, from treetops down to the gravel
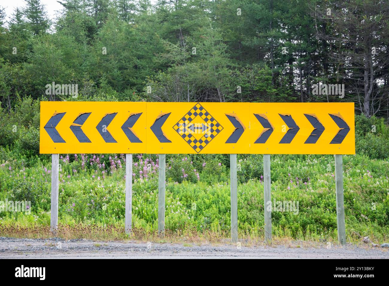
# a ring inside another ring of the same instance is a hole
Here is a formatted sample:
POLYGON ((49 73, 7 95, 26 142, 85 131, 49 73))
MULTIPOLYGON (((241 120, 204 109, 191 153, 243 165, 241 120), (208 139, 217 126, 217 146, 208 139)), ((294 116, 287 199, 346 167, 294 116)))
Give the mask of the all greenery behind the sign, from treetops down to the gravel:
MULTIPOLYGON (((388 241, 388 0, 59 2, 53 19, 39 0, 11 15, 0 4, 0 202, 31 203, 0 211, 0 236, 51 236, 41 100, 355 102, 356 154, 343 156, 347 241, 388 241), (315 92, 330 84, 342 95, 315 92)), ((133 158, 133 233, 148 241, 159 160, 133 158)), ((59 235, 128 239, 125 155, 60 154, 60 166, 59 235)), ((275 154, 271 166, 272 199, 300 205, 272 213, 273 235, 337 241, 333 156, 275 154)), ((166 233, 230 237, 229 167, 228 154, 166 155, 166 233)), ((238 154, 241 238, 263 236, 263 177, 262 155, 238 154)))

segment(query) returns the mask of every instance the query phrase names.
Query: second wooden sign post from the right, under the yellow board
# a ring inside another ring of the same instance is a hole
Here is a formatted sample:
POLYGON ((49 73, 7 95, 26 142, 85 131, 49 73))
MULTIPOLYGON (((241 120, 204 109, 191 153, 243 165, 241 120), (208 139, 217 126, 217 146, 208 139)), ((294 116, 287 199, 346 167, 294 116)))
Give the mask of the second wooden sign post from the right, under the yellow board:
POLYGON ((272 242, 272 209, 268 209, 268 204, 272 203, 270 188, 270 154, 263 155, 263 201, 265 212, 265 242, 272 242))

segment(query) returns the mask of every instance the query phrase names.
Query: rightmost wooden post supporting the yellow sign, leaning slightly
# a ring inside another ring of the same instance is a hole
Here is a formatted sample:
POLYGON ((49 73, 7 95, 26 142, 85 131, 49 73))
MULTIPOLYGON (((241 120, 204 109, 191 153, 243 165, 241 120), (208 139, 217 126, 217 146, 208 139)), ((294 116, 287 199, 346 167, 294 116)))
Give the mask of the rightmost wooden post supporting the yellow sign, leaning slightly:
POLYGON ((346 227, 344 219, 343 198, 343 155, 335 155, 335 181, 336 181, 336 222, 338 226, 338 242, 346 244, 346 227))

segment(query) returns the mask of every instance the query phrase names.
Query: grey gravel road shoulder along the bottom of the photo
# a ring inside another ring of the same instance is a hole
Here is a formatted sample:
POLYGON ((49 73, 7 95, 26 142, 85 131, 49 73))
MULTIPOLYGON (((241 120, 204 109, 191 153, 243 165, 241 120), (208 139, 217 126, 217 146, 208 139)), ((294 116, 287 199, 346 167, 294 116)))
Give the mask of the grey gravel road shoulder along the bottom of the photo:
POLYGON ((92 241, 85 239, 16 239, 0 237, 0 259, 4 258, 363 258, 387 259, 388 248, 367 245, 337 246, 326 243, 293 242, 289 245, 233 246, 231 244, 171 244, 136 241, 92 241))

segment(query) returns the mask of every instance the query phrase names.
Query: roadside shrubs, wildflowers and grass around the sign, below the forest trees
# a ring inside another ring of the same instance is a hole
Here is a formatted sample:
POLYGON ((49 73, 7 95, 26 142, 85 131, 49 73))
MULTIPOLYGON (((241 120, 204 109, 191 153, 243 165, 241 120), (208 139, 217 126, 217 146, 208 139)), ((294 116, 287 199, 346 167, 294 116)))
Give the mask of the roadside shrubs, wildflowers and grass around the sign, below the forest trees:
MULTIPOLYGON (((39 105, 21 100, 0 110, 0 201, 31 201, 30 214, 0 212, 0 235, 49 236, 51 157, 39 155, 39 105), (17 132, 14 122, 23 124, 17 132)), ((382 119, 356 117, 357 154, 343 157, 348 241, 389 239, 389 128, 382 119), (372 132, 372 126, 375 126, 372 132)), ((263 157, 238 155, 241 238, 263 236, 263 157)), ((60 155, 59 233, 67 238, 124 239, 124 154, 60 155)), ((273 235, 336 241, 334 158, 272 155, 272 200, 298 202, 273 211, 273 235), (297 207, 297 205, 295 205, 297 207)), ((133 156, 134 239, 158 230, 158 156, 133 156)), ((166 234, 228 238, 228 155, 166 155, 166 234)))

